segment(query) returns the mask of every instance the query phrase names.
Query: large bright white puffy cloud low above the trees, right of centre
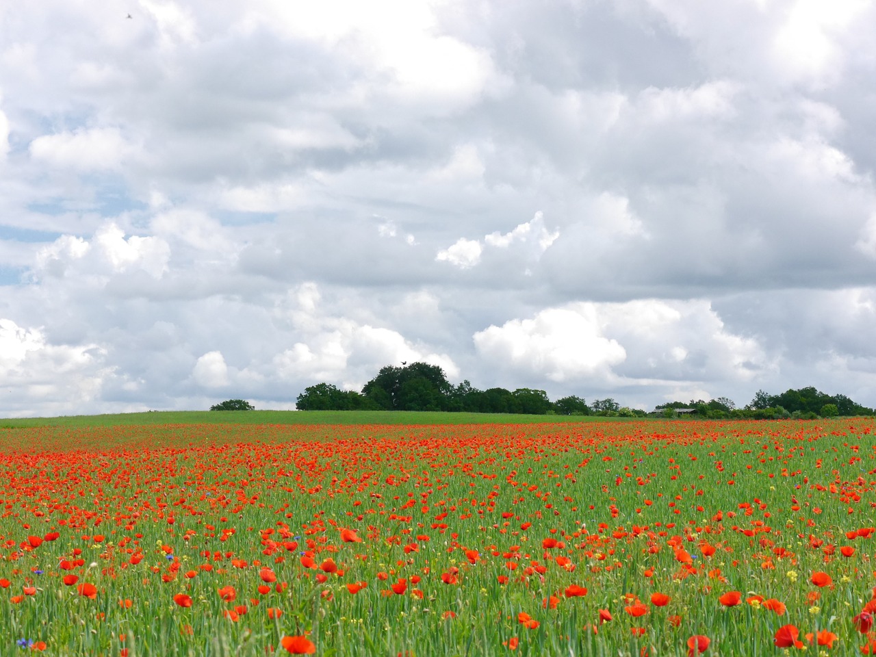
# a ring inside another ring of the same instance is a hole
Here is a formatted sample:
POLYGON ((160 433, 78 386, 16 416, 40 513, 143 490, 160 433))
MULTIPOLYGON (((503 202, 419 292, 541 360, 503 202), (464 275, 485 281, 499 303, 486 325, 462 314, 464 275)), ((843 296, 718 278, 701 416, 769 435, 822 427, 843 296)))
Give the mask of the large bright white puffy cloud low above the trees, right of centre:
POLYGON ((659 385, 671 395, 717 381, 752 381, 774 367, 756 340, 728 331, 703 301, 576 303, 473 337, 486 364, 517 372, 516 379, 597 389, 659 385))

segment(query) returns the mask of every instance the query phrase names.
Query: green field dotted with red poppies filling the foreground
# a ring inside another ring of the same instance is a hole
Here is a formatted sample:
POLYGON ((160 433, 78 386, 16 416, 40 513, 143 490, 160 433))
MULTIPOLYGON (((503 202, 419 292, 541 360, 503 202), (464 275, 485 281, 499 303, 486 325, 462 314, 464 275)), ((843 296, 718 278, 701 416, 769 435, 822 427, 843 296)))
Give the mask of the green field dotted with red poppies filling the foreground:
POLYGON ((873 428, 0 429, 0 654, 876 653, 873 428))

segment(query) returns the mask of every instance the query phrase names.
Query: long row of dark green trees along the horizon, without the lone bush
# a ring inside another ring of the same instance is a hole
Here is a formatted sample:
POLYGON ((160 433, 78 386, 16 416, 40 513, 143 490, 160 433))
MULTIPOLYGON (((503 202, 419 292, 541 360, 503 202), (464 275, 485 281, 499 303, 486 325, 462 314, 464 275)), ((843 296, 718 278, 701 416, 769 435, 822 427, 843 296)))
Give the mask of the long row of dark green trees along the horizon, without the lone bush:
MULTIPOLYGON (((441 367, 427 363, 386 365, 363 386, 361 392, 340 390, 328 383, 311 385, 300 393, 296 406, 301 411, 465 411, 614 417, 645 417, 649 414, 620 406, 611 398, 595 399, 588 404, 581 397, 569 395, 551 401, 547 392, 533 388, 478 390, 468 380, 453 385, 441 367)), ((811 386, 778 395, 760 390, 744 408, 737 408, 731 399, 718 397, 708 401, 668 402, 657 406, 655 412, 667 417, 690 415, 714 419, 805 419, 874 414, 872 408, 861 406, 844 395, 828 395, 811 386)))

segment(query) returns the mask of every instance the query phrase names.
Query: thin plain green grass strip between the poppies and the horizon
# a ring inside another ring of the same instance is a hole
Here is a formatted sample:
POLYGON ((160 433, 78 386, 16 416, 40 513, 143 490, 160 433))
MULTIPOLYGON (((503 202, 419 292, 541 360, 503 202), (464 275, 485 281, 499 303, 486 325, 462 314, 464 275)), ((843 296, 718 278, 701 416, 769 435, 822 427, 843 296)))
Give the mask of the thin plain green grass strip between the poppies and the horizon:
POLYGON ((0 428, 121 427, 157 424, 563 424, 600 420, 635 420, 635 418, 430 411, 156 411, 6 419, 0 420, 0 428))

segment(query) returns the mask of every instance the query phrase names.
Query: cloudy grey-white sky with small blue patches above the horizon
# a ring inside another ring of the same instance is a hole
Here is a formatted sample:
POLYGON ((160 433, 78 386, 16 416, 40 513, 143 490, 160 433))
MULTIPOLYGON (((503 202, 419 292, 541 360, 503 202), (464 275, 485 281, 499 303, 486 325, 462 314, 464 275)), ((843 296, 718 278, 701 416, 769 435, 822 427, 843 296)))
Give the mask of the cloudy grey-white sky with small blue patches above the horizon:
POLYGON ((286 409, 418 360, 876 406, 874 27, 867 0, 0 4, 0 415, 286 409))

